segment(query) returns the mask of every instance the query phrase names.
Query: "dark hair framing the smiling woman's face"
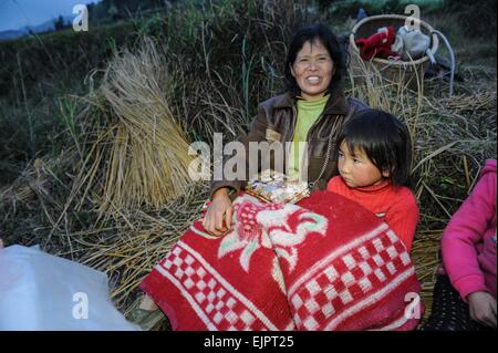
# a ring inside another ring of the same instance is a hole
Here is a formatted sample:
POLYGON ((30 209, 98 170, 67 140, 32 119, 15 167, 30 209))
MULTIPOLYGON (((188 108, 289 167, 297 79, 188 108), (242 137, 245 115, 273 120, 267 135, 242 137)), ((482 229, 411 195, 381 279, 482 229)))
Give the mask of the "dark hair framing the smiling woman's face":
POLYGON ((294 95, 301 94, 301 89, 299 87, 298 82, 295 82, 294 76, 292 76, 291 66, 294 63, 295 56, 298 56, 298 53, 302 49, 304 43, 314 43, 317 40, 319 40, 323 44, 323 46, 325 46, 325 49, 329 51, 330 58, 334 63, 335 72, 329 84, 329 93, 331 93, 331 90, 334 85, 339 85, 341 83, 342 76, 345 73, 344 53, 342 52, 341 44, 339 43, 338 38, 334 35, 334 33, 332 33, 332 31, 322 23, 302 28, 294 34, 289 46, 286 60, 287 89, 294 95))

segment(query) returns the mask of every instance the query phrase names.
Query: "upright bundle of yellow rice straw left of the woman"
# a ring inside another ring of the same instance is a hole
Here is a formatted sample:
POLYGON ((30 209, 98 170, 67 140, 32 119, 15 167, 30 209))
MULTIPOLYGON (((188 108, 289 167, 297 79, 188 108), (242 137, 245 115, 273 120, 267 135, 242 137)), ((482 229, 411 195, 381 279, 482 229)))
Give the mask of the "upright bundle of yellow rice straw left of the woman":
POLYGON ((97 133, 93 166, 87 169, 93 176, 104 169, 101 215, 142 205, 157 208, 190 181, 187 137, 167 101, 170 86, 151 40, 136 54, 125 50, 108 64, 97 93, 107 122, 97 133))

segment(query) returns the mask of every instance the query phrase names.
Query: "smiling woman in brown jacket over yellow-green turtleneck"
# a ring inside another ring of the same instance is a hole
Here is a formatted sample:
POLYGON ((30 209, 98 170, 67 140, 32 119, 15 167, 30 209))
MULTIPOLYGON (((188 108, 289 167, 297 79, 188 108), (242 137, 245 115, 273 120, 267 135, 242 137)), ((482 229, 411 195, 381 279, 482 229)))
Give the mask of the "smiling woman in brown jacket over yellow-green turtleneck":
MULTIPOLYGON (((259 105, 249 134, 240 138, 246 150, 249 150, 249 142, 292 143, 287 172, 292 176, 307 175, 312 189, 324 189, 326 181, 338 175, 335 137, 339 129, 355 111, 366 107, 357 100, 345 97, 341 87, 344 74, 341 46, 326 25, 314 24, 298 31, 286 61, 288 91, 259 105), (307 154, 303 142, 308 143, 307 154)), ((269 165, 274 167, 271 153, 236 158, 245 158, 246 166, 252 158, 257 159, 259 168, 269 165)), ((211 205, 203 221, 208 232, 221 236, 230 229, 231 200, 246 186, 247 179, 212 181, 211 205)))

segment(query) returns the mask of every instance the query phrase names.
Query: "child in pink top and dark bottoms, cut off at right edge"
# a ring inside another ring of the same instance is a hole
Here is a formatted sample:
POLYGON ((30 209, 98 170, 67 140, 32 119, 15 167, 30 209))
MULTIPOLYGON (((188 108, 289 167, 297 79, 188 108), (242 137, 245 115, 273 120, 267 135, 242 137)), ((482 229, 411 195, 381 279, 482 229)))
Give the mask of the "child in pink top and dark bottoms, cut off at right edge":
POLYGON ((444 268, 424 330, 479 331, 496 320, 496 159, 443 232, 444 268), (447 274, 447 276, 446 276, 447 274))

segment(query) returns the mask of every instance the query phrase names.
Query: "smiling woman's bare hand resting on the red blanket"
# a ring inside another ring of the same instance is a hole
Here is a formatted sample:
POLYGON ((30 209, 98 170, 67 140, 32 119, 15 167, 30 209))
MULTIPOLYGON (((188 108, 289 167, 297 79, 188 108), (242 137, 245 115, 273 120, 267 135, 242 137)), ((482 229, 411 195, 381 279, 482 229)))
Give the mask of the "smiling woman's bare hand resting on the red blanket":
POLYGON ((211 205, 203 219, 204 229, 214 236, 222 236, 231 227, 232 214, 234 207, 228 196, 228 188, 222 187, 212 196, 211 205))

